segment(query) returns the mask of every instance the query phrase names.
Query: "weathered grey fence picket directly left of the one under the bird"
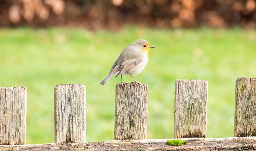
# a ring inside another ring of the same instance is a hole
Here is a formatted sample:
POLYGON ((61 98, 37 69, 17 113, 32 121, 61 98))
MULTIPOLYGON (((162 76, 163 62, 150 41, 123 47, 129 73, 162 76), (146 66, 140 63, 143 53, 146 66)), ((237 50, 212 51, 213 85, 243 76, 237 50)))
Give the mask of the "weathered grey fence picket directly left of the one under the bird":
POLYGON ((86 86, 55 86, 54 142, 86 142, 86 86))

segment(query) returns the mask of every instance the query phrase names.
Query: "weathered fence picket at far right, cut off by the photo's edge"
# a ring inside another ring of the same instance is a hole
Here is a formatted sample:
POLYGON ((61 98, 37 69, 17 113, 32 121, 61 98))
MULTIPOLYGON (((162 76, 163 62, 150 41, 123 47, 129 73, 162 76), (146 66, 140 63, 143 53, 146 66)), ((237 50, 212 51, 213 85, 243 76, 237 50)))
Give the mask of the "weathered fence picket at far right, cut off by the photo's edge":
POLYGON ((256 78, 237 78, 235 136, 256 136, 256 78))

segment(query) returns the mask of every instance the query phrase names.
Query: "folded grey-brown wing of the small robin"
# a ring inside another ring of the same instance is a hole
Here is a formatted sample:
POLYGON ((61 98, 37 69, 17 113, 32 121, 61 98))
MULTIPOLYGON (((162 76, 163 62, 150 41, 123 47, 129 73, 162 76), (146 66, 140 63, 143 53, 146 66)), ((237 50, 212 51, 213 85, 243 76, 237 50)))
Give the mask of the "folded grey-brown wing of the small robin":
POLYGON ((139 64, 141 61, 143 61, 143 57, 139 57, 137 59, 124 59, 119 67, 119 73, 116 75, 116 77, 119 74, 123 74, 135 65, 139 64))

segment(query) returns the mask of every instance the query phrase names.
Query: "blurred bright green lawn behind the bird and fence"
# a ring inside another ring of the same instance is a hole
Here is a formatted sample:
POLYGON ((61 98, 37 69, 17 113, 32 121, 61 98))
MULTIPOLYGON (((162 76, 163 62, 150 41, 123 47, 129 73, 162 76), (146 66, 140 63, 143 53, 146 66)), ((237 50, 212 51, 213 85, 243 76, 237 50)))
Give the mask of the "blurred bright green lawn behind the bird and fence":
POLYGON ((145 39, 156 48, 134 78, 149 85, 148 139, 173 138, 176 79, 208 80, 207 137, 232 137, 236 78, 256 78, 255 36, 240 29, 5 28, 1 87, 27 87, 27 144, 53 142, 54 86, 70 83, 87 87, 86 142, 113 140, 115 86, 121 80, 100 82, 127 45, 145 39))

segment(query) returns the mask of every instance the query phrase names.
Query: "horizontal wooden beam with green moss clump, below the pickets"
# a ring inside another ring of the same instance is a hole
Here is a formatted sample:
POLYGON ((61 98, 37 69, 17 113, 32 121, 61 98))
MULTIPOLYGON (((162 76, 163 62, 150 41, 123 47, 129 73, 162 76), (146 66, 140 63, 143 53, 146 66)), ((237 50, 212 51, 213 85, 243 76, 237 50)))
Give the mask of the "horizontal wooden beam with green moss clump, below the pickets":
MULTIPOLYGON (((181 146, 170 146, 166 143, 168 139, 154 140, 112 140, 104 142, 88 142, 88 143, 51 143, 51 144, 35 144, 35 145, 2 145, 0 151, 7 150, 129 150, 129 151, 181 151, 181 150, 256 150, 256 137, 231 137, 231 138, 181 138, 186 140, 187 144, 181 146)), ((169 139, 174 140, 174 139, 169 139)))

